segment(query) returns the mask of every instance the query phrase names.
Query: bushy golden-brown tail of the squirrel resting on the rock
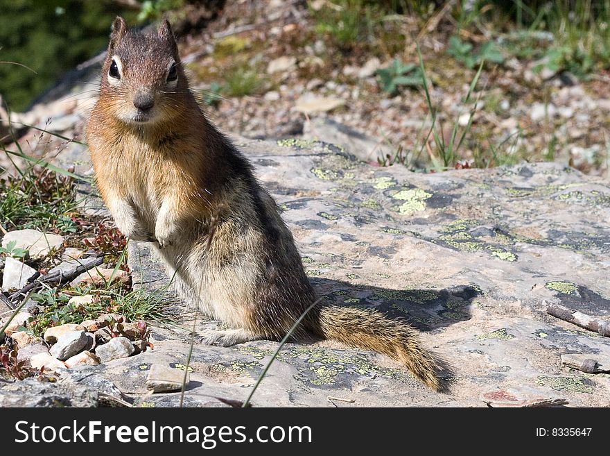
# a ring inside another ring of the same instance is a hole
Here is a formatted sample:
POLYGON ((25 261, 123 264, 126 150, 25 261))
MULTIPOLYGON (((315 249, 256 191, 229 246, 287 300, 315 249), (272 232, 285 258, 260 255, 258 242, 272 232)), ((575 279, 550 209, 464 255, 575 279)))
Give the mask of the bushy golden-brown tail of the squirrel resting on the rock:
POLYGON ((419 346, 417 330, 408 323, 388 319, 375 310, 336 305, 321 306, 308 319, 310 330, 324 339, 388 355, 406 366, 428 387, 439 391, 437 363, 419 346))

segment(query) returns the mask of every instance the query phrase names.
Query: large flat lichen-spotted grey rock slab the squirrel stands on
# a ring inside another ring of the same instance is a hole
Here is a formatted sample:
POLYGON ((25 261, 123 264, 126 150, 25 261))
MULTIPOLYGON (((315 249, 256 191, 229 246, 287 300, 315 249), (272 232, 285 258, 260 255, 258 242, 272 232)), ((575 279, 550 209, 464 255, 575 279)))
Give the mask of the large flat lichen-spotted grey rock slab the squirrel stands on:
MULTIPOLYGON (((572 353, 602 364, 610 339, 545 312, 546 303, 561 303, 610 317, 610 187, 603 180, 557 164, 412 174, 370 167, 313 141, 239 146, 277 199, 324 302, 406 318, 451 364, 442 374, 447 392, 438 394, 382 355, 333 341, 290 343, 254 406, 610 403, 607 373, 561 364, 572 353)), ((135 287, 167 282, 147 244, 130 243, 128 257, 135 287)), ((189 353, 193 313, 170 301, 179 323, 153 325, 154 350, 73 369, 111 381, 140 405, 177 406, 180 393, 146 396, 150 367, 183 369, 189 353)), ((198 330, 218 324, 198 321, 198 330)), ((275 348, 271 341, 195 342, 185 405, 245 400, 275 348)))

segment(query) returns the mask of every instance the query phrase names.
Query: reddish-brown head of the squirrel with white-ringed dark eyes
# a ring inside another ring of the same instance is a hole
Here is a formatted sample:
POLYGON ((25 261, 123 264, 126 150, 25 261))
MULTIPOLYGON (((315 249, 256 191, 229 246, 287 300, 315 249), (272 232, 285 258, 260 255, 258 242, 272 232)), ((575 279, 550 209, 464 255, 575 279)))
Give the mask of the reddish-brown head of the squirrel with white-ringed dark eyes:
POLYGON ((179 115, 188 93, 169 22, 143 34, 128 30, 125 20, 116 17, 100 83, 106 112, 125 124, 154 125, 179 115))

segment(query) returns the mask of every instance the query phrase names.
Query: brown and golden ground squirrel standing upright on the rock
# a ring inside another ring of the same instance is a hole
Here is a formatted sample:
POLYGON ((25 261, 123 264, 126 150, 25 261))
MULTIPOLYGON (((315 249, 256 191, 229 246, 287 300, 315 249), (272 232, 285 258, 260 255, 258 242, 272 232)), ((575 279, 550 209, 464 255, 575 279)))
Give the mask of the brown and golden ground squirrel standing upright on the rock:
MULTIPOLYGON (((315 302, 275 201, 191 94, 167 21, 143 34, 114 20, 87 142, 116 226, 153 242, 182 293, 234 328, 204 341, 281 339, 315 302)), ((434 358, 403 321, 320 304, 295 337, 306 335, 389 355, 439 389, 434 358)))

